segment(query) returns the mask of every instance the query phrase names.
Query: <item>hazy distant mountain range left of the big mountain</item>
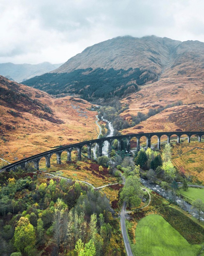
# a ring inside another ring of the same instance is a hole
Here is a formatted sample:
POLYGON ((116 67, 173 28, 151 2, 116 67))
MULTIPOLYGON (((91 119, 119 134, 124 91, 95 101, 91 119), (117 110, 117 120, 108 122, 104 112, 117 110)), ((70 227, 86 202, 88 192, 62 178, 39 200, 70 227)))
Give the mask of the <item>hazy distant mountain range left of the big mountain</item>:
POLYGON ((43 62, 40 64, 13 64, 13 63, 0 63, 0 75, 8 77, 11 80, 22 82, 33 76, 40 76, 46 72, 58 68, 62 64, 51 64, 43 62))

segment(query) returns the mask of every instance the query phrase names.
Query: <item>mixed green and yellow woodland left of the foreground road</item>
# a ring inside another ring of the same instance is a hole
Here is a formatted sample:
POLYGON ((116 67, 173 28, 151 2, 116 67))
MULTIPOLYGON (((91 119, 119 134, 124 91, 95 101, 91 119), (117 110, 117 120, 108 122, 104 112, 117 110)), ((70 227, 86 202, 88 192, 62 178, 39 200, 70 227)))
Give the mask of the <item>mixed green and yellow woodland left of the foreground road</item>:
POLYGON ((9 256, 125 255, 106 196, 32 167, 0 173, 0 248, 9 256))

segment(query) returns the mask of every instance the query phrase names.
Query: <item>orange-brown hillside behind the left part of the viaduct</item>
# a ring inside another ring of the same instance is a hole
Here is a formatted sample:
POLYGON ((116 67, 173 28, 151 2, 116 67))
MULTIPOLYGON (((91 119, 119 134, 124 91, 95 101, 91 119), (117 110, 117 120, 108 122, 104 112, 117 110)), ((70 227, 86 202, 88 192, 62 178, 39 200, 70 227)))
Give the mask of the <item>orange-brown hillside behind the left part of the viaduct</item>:
POLYGON ((97 113, 89 111, 90 107, 77 97, 55 99, 0 76, 0 158, 15 162, 60 145, 96 138, 97 113))

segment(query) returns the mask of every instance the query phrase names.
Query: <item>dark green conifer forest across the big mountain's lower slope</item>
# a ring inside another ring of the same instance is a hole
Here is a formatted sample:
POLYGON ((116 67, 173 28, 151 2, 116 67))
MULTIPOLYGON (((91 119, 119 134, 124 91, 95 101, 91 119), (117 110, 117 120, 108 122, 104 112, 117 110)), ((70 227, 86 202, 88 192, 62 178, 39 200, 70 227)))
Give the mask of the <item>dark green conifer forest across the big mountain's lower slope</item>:
POLYGON ((130 93, 137 92, 138 85, 142 85, 150 79, 151 74, 146 71, 140 68, 129 68, 128 70, 77 69, 70 73, 46 73, 28 79, 22 84, 52 95, 77 94, 88 101, 98 98, 108 99, 114 96, 123 98, 130 93))

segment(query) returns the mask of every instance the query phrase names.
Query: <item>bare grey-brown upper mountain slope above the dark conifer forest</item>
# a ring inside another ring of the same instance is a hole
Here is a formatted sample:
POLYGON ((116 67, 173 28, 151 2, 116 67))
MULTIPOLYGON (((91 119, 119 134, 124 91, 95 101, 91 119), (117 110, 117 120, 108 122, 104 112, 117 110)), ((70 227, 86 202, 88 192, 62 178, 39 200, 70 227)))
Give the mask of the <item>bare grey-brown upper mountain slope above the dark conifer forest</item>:
POLYGON ((173 48, 180 43, 157 36, 119 36, 87 47, 51 73, 68 73, 86 68, 150 68, 159 73, 169 61, 173 48))

